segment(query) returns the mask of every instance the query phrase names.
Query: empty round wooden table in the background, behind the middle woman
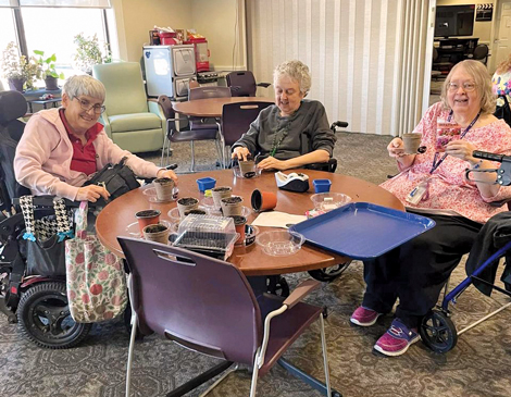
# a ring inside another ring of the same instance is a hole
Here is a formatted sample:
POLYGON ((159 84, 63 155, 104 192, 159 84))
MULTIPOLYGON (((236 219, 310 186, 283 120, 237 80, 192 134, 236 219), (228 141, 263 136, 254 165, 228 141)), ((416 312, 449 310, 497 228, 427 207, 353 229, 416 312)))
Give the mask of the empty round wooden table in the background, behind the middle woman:
POLYGON ((275 102, 274 98, 229 97, 195 99, 186 102, 172 102, 175 112, 197 117, 222 117, 222 107, 236 102, 275 102))

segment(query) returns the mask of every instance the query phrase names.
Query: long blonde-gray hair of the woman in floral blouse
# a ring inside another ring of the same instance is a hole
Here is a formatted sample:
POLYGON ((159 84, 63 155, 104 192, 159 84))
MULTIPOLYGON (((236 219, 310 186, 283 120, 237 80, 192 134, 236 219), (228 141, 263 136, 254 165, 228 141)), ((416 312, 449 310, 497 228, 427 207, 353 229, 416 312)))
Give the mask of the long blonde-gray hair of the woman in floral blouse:
POLYGON ((491 76, 483 63, 474 60, 459 62, 450 70, 446 80, 444 82, 444 85, 441 86, 440 99, 444 103, 444 108, 450 110, 449 102, 447 101, 447 88, 451 82, 452 74, 459 67, 462 67, 474 79, 477 97, 481 100, 481 113, 494 113, 496 97, 491 90, 491 76))

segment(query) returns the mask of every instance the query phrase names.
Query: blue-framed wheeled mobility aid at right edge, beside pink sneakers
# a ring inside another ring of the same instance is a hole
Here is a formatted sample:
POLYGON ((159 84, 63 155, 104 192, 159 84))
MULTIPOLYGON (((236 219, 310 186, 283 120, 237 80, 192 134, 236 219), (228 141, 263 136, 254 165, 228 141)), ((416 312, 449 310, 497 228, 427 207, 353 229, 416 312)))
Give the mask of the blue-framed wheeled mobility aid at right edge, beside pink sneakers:
MULTIPOLYGON (((471 181, 470 174, 472 172, 495 172, 497 174, 496 182, 495 182, 496 184, 499 184, 502 186, 511 185, 511 156, 494 154, 494 153, 488 153, 488 152, 477 151, 477 150, 473 152, 473 156, 475 158, 499 162, 501 163, 501 165, 499 166, 498 170, 468 170, 466 178, 469 181, 471 181)), ((500 206, 500 204, 503 204, 503 202, 499 202, 497 204, 500 206)), ((508 207, 509 207, 509 203, 508 203, 508 207)), ((498 222, 499 221, 500 219, 498 220, 498 222)), ((487 258, 482 264, 479 264, 477 269, 471 275, 469 275, 465 280, 463 280, 449 294, 446 294, 446 296, 443 299, 441 305, 437 309, 432 310, 428 314, 426 314, 422 319, 421 325, 419 327, 419 333, 424 344, 428 348, 431 348, 433 351, 444 353, 444 352, 451 350, 452 348, 454 348, 458 342, 458 335, 477 325, 478 323, 490 318, 491 315, 497 314, 499 311, 503 310, 504 308, 511 305, 511 302, 504 305, 500 309, 486 315, 484 319, 481 319, 474 324, 469 325, 468 327, 465 327, 464 330, 460 332, 457 332, 456 325, 450 319, 451 313, 449 311, 449 302, 456 303, 458 297, 462 295, 463 291, 470 285, 474 284, 474 282, 479 283, 481 285, 484 285, 484 286, 488 286, 493 290, 498 290, 499 293, 511 297, 511 271, 508 272, 509 274, 506 278, 502 278, 504 288, 498 287, 494 285, 493 283, 488 282, 487 280, 484 280, 481 277, 482 273, 485 270, 489 270, 489 268, 493 265, 498 265, 499 260, 502 257, 506 257, 507 265, 510 266, 510 268, 507 268, 507 270, 511 269, 511 237, 507 243, 504 243, 501 247, 499 247, 495 252, 493 252, 491 255, 490 253, 491 252, 485 252, 485 255, 488 255, 489 258, 487 258)), ((506 274, 506 271, 504 271, 504 274, 506 274)))

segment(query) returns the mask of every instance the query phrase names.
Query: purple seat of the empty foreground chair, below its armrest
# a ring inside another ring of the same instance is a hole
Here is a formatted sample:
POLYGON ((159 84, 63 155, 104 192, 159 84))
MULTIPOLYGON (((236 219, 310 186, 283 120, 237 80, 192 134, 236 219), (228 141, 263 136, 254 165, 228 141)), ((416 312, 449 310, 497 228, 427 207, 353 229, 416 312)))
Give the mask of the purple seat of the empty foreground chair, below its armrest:
MULTIPOLYGON (((282 297, 270 294, 260 295, 258 303, 262 318, 264 319, 272 310, 281 308, 283 301, 282 297)), ((302 334, 303 330, 319 319, 322 311, 321 307, 299 302, 292 309, 272 319, 264 364, 259 370, 260 376, 264 376, 272 369, 286 349, 302 334)))

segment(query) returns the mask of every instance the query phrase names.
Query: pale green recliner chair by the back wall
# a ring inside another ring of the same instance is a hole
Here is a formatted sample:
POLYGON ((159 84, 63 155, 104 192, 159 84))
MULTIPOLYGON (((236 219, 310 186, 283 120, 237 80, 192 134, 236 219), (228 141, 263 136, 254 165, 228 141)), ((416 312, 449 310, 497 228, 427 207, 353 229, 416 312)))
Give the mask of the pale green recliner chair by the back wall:
POLYGON ((95 65, 92 75, 104 84, 107 111, 104 131, 130 152, 160 150, 166 134, 166 119, 157 101, 148 100, 138 62, 95 65))

